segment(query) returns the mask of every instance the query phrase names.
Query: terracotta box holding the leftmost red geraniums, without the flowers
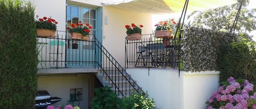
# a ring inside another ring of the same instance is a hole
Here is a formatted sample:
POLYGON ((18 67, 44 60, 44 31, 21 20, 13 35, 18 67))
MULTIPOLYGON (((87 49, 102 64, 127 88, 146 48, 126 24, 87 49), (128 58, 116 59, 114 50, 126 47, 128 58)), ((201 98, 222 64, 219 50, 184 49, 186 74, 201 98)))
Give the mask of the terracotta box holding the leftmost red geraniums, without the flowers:
POLYGON ((37 36, 56 37, 56 31, 50 29, 37 29, 37 36))

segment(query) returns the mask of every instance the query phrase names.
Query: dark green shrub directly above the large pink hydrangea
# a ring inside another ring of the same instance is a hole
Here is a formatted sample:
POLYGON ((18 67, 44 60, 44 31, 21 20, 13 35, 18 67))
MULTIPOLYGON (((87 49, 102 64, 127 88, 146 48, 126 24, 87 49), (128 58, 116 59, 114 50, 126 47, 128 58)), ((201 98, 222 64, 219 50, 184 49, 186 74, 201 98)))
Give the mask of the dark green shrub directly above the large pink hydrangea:
POLYGON ((249 49, 245 42, 231 42, 223 44, 219 49, 217 67, 220 80, 225 81, 230 76, 252 81, 256 84, 255 48, 249 49))

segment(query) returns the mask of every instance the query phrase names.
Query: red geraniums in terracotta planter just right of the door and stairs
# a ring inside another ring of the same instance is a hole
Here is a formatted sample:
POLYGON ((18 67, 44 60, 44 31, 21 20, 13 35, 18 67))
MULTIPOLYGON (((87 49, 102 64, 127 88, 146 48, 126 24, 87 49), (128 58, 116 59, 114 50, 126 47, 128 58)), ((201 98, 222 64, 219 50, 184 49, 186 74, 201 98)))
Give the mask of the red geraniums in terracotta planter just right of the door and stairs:
POLYGON ((128 40, 141 40, 141 28, 143 27, 142 24, 137 26, 134 23, 132 23, 131 25, 127 24, 124 27, 126 27, 127 30, 126 34, 128 40))

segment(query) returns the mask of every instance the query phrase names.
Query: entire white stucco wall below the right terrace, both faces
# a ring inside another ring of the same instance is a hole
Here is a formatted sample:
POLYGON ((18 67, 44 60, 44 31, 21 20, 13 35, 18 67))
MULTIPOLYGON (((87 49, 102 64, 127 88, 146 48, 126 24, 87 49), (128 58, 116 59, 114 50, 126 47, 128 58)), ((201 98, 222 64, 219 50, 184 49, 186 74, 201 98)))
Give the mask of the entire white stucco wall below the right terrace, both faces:
POLYGON ((204 109, 219 86, 215 71, 187 73, 175 69, 127 69, 160 109, 204 109))

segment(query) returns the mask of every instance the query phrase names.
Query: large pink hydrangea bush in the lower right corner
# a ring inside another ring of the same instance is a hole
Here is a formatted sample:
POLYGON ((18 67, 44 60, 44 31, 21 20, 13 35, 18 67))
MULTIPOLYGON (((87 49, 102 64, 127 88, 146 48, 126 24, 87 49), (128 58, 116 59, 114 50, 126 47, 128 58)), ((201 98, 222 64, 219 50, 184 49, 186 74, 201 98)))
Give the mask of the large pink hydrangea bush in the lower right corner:
POLYGON ((222 85, 206 102, 207 109, 256 109, 256 92, 248 80, 230 77, 222 85))

